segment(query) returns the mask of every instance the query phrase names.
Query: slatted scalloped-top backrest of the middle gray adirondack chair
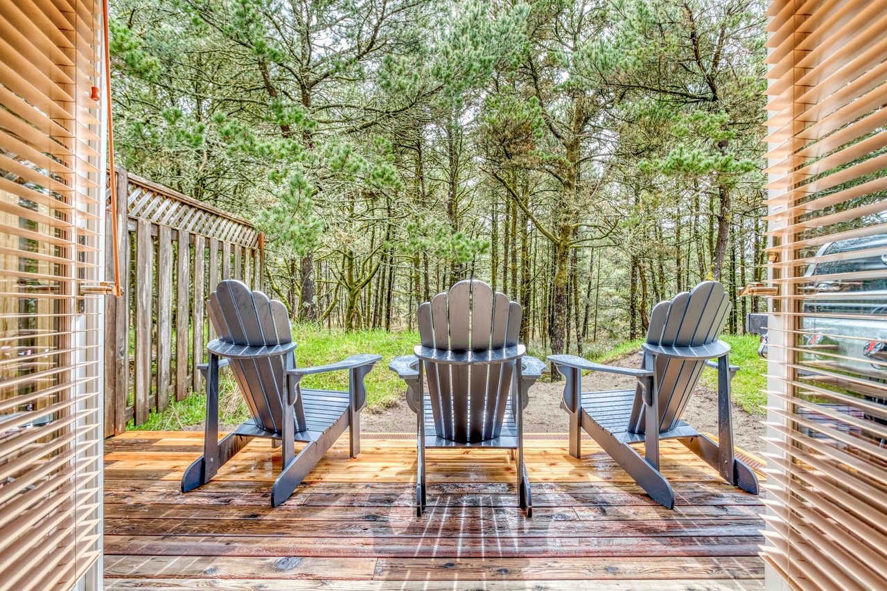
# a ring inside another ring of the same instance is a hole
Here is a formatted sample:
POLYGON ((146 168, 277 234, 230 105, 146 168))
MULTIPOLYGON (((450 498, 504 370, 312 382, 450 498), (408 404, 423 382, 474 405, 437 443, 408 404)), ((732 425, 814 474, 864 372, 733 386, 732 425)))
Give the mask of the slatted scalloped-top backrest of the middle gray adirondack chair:
MULTIPOLYGON (((489 351, 515 346, 521 305, 480 280, 463 280, 417 311, 422 346, 489 351)), ((437 437, 475 443, 499 437, 509 404, 514 360, 470 366, 425 362, 437 437)))

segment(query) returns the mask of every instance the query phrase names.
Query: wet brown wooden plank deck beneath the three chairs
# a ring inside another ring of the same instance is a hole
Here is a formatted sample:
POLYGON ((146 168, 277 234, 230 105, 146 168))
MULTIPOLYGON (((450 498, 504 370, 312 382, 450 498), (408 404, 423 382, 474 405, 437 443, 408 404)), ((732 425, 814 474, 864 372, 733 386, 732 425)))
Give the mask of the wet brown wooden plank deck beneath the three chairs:
POLYGON ((428 511, 414 515, 415 438, 347 433, 293 497, 271 508, 279 449, 254 440, 208 485, 179 492, 199 432, 106 441, 106 588, 758 589, 760 500, 677 442, 655 505, 590 440, 528 436, 533 518, 502 450, 430 450, 428 511), (465 457, 467 456, 467 457, 465 457), (582 583, 581 581, 586 581, 582 583))

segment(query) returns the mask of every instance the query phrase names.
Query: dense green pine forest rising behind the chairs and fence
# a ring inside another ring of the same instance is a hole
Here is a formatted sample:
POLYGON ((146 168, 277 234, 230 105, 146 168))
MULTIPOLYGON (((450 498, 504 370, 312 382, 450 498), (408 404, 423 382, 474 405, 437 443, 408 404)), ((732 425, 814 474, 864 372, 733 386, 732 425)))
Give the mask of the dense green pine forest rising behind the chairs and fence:
POLYGON ((762 1, 112 10, 119 162, 253 221, 302 321, 412 327, 474 277, 522 303, 525 340, 581 353, 761 276, 762 1))

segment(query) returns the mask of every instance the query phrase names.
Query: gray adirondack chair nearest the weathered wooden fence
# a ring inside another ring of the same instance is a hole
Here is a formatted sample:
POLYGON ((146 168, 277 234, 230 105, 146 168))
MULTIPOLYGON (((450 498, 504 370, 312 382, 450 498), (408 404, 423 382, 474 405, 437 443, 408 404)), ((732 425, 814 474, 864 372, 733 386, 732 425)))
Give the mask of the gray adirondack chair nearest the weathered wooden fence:
POLYGON ((282 469, 271 488, 271 507, 295 490, 326 450, 349 428, 350 454, 360 453, 360 411, 366 404, 364 377, 379 355, 353 355, 338 363, 296 367, 287 309, 238 280, 219 282, 207 304, 218 338, 207 345, 200 366, 207 382, 207 423, 203 455, 184 471, 182 492, 209 482, 219 467, 253 437, 281 445, 282 469), (219 368, 228 366, 247 400, 252 419, 218 440, 219 368), (347 370, 349 391, 305 390, 302 376, 347 370), (296 454, 294 442, 306 445, 296 454))

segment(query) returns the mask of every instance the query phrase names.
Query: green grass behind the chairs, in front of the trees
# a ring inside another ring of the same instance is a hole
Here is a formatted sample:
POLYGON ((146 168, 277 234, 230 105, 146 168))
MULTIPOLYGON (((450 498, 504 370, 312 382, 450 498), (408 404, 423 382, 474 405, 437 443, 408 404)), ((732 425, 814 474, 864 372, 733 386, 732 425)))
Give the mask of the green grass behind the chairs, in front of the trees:
MULTIPOLYGON (((404 396, 404 382, 394 372, 389 371, 388 364, 398 355, 408 355, 413 345, 419 343, 416 331, 387 332, 385 330, 359 330, 345 332, 328 330, 313 325, 296 325, 293 329, 295 342, 299 348, 295 351, 295 359, 299 366, 320 366, 345 359, 357 353, 378 353, 382 360, 376 364, 366 376, 366 398, 369 408, 382 410, 404 396)), ((766 360, 757 357, 757 336, 724 336, 722 337, 733 347, 730 362, 742 369, 733 381, 734 402, 752 414, 764 414, 762 406, 766 402, 763 393, 766 385, 766 360)), ((640 350, 642 341, 624 343, 601 342, 586 343, 584 357, 597 363, 608 363, 624 355, 640 350)), ((545 359, 545 351, 529 347, 530 355, 545 359)), ((705 369, 703 384, 715 390, 718 387, 718 376, 714 369, 705 369)), ((302 379, 305 388, 322 390, 348 390, 348 372, 332 372, 329 374, 307 375, 302 379)), ((237 425, 249 417, 246 403, 239 395, 231 374, 224 373, 219 383, 221 394, 220 408, 223 425, 237 425)), ((194 393, 180 402, 173 402, 164 413, 154 413, 148 420, 135 429, 138 430, 179 430, 199 425, 206 416, 206 397, 202 392, 194 393)), ((134 429, 132 422, 127 429, 134 429)))

